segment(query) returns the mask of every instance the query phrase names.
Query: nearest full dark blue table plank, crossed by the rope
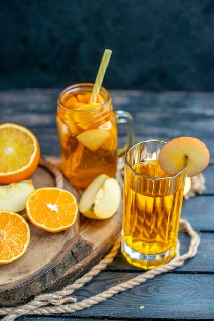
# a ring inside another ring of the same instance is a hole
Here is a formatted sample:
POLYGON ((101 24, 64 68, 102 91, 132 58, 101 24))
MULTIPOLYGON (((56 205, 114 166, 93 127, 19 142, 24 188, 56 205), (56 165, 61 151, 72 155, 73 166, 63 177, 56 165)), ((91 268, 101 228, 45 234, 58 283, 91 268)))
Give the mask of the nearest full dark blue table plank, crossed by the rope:
MULTIPOLYGON (((79 291, 76 298, 79 300, 94 296, 103 288, 112 287, 135 276, 135 273, 103 273, 87 289, 79 291)), ((93 319, 104 315, 107 319, 151 320, 178 319, 179 315, 179 319, 213 319, 213 297, 213 275, 162 274, 132 291, 116 294, 102 305, 75 312, 75 317, 77 319, 90 315, 93 319)))

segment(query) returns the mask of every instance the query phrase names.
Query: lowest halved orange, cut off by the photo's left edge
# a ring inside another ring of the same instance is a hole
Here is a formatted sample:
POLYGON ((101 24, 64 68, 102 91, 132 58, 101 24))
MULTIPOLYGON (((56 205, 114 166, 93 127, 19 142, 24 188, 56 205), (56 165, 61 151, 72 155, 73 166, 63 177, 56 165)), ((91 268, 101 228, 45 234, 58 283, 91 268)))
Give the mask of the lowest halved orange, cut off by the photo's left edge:
POLYGON ((19 214, 0 211, 0 264, 22 256, 30 242, 30 228, 19 214))

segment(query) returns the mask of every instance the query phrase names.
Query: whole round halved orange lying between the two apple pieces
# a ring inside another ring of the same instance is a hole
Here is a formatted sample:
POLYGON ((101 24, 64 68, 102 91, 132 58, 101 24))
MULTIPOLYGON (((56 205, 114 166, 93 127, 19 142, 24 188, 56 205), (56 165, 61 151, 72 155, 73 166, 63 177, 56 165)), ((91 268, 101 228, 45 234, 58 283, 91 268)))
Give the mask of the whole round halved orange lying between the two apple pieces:
POLYGON ((70 228, 77 219, 78 204, 75 196, 57 187, 42 187, 26 199, 26 213, 30 222, 48 232, 70 228))

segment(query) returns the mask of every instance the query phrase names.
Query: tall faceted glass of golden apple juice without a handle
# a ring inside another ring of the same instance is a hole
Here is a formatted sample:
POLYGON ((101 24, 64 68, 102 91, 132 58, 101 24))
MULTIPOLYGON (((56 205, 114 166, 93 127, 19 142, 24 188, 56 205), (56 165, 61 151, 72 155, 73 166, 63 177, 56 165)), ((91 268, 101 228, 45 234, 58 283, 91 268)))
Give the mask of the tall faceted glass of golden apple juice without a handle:
POLYGON ((186 165, 165 174, 158 155, 166 142, 141 141, 126 153, 121 251, 145 270, 166 264, 175 255, 186 178, 186 165))

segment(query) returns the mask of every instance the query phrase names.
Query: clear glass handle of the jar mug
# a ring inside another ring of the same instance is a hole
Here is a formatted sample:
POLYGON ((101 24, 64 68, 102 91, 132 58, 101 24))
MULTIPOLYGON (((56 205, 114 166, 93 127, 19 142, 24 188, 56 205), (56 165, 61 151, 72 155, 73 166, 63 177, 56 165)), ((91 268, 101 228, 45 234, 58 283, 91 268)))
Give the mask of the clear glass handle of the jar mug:
POLYGON ((117 124, 125 124, 126 126, 126 143, 124 146, 117 149, 117 156, 125 156, 127 148, 135 144, 135 128, 132 115, 123 110, 115 110, 117 124))

